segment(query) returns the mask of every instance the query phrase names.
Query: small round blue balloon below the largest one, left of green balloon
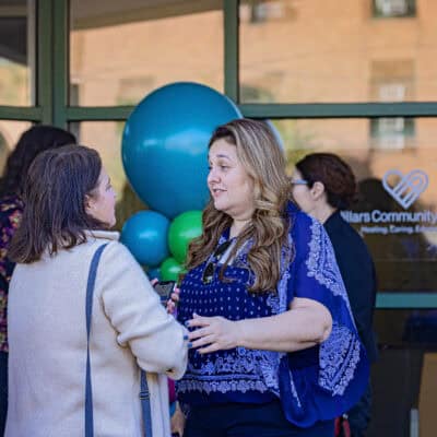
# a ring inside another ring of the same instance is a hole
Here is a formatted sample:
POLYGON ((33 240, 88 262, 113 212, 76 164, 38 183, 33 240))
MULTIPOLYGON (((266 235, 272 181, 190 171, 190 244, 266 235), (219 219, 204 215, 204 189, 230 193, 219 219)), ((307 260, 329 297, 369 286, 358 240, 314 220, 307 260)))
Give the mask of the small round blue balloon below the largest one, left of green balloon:
POLYGON ((121 229, 120 240, 140 264, 156 267, 168 257, 168 218, 156 211, 133 214, 121 229))

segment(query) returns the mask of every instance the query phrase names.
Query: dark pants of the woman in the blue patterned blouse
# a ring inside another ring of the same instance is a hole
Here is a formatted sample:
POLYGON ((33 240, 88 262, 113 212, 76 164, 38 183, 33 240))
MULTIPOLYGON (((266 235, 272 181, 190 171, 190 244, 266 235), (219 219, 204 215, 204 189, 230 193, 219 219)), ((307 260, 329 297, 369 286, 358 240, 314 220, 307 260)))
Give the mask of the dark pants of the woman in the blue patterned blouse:
POLYGON ((298 428, 284 416, 280 402, 227 403, 191 409, 184 437, 333 437, 334 422, 298 428))

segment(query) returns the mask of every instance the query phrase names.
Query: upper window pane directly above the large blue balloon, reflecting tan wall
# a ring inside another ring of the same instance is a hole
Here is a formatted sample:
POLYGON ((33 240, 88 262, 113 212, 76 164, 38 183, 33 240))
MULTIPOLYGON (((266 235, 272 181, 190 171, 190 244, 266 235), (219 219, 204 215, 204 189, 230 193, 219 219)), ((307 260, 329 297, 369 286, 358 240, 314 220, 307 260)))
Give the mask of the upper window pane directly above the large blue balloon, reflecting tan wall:
POLYGON ((223 1, 70 3, 71 105, 134 105, 176 81, 223 91, 223 1))

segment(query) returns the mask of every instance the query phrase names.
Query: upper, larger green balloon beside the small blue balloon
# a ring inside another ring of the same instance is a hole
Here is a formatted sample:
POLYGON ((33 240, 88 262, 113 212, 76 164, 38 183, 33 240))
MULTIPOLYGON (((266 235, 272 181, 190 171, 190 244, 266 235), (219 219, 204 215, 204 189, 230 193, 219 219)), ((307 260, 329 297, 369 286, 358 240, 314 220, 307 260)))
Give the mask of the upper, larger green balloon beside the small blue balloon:
POLYGON ((202 211, 187 211, 170 223, 168 246, 180 263, 186 261, 189 243, 202 235, 202 211))

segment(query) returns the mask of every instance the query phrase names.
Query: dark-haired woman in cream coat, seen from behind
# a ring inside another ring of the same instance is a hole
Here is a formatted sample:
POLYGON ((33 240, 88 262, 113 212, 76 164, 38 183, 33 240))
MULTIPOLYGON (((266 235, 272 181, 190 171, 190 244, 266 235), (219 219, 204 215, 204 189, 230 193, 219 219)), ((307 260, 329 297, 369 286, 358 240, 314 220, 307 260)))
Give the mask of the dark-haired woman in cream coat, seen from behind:
POLYGON ((185 329, 117 241, 115 193, 98 154, 70 145, 29 169, 9 300, 7 437, 84 435, 85 294, 96 275, 90 336, 94 435, 143 436, 140 368, 147 371, 153 437, 168 437, 166 376, 185 371, 185 329), (95 229, 95 231, 92 231, 95 229))

